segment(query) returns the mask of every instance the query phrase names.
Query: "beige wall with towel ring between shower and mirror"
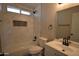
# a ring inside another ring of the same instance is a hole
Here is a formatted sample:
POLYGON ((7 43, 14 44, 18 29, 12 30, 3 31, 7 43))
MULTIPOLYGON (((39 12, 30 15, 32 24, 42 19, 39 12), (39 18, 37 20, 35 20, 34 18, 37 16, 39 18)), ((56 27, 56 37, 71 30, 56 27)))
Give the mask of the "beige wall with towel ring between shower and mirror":
POLYGON ((40 35, 46 37, 49 40, 55 38, 56 27, 56 4, 44 3, 41 5, 41 20, 40 20, 40 35), (53 29, 49 30, 48 26, 52 25, 53 29))

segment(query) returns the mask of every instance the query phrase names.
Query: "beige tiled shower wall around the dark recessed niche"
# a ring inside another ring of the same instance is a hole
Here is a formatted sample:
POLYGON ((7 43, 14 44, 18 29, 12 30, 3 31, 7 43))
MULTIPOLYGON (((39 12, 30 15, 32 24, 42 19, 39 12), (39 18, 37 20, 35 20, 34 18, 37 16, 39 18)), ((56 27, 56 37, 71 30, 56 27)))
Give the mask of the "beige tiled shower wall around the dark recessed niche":
POLYGON ((4 14, 2 49, 5 53, 27 49, 33 45, 33 18, 15 13, 4 14), (26 21, 27 26, 13 26, 13 20, 26 21))

